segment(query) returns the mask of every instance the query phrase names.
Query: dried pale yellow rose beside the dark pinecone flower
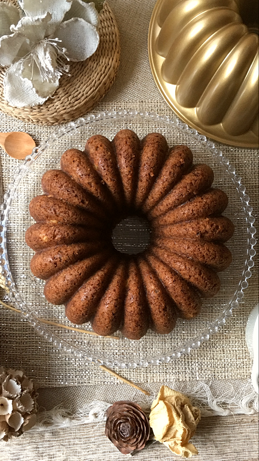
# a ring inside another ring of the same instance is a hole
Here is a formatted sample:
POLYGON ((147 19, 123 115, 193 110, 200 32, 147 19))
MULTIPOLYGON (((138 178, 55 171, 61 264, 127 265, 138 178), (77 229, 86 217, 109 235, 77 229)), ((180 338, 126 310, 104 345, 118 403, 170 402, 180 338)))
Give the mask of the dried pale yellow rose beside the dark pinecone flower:
POLYGON ((150 412, 150 427, 156 440, 167 445, 176 455, 185 458, 197 455, 197 449, 189 440, 200 419, 199 408, 193 407, 188 397, 161 386, 150 412))

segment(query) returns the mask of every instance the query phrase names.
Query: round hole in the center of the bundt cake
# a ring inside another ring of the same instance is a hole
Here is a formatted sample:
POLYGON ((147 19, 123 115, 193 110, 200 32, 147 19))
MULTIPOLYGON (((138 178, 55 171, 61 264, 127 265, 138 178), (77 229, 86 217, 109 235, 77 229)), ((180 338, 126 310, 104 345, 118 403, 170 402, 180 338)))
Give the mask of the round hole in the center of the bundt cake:
POLYGON ((113 230, 112 242, 116 250, 121 253, 141 253, 150 243, 148 220, 138 216, 128 216, 122 219, 113 230))

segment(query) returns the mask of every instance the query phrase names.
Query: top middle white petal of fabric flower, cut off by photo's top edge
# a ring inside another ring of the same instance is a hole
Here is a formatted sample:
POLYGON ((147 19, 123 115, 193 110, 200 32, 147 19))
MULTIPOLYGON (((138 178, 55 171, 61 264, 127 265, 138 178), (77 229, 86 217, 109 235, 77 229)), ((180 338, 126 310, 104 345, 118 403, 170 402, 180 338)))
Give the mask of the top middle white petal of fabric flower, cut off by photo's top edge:
POLYGON ((71 0, 19 0, 19 5, 27 16, 44 16, 46 11, 52 15, 52 24, 61 23, 71 7, 71 0))

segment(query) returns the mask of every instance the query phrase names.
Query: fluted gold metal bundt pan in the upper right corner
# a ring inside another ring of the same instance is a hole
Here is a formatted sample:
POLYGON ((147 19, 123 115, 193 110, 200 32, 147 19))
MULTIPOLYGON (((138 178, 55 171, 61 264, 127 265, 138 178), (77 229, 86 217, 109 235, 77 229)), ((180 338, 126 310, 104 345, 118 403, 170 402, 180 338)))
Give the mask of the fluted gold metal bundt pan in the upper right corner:
POLYGON ((259 143, 258 0, 158 0, 149 28, 155 83, 178 116, 233 146, 259 143))

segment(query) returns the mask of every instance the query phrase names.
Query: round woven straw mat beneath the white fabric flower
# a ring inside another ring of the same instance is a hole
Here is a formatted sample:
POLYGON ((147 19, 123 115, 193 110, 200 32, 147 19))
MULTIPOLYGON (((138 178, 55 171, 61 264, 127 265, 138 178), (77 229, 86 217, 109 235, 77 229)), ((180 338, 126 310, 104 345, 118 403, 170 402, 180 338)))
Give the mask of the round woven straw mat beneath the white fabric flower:
MULTIPOLYGON (((16 4, 15 0, 10 3, 16 4)), ((12 107, 3 95, 6 68, 0 66, 0 111, 26 122, 55 125, 75 120, 90 111, 105 95, 115 80, 120 64, 119 31, 115 18, 104 2, 100 12, 100 43, 86 61, 70 64, 53 97, 41 106, 12 107)))

